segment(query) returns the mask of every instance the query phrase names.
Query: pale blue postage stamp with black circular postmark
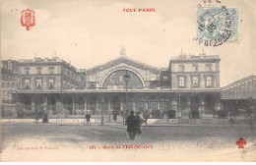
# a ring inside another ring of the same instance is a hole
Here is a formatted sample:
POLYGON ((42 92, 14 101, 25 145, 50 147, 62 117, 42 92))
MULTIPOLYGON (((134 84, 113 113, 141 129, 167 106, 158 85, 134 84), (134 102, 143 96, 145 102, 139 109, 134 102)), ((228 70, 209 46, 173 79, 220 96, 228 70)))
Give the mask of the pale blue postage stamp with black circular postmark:
POLYGON ((238 41, 238 8, 201 7, 198 9, 197 39, 205 46, 238 41))

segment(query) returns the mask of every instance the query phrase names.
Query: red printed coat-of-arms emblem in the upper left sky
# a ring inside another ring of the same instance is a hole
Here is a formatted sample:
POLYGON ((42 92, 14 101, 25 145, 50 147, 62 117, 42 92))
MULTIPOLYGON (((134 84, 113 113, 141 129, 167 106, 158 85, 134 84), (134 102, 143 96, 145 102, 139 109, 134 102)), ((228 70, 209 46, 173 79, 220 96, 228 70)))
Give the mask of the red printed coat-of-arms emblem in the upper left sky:
POLYGON ((23 27, 27 27, 27 30, 30 30, 30 27, 35 25, 33 10, 27 9, 22 11, 21 24, 23 27))

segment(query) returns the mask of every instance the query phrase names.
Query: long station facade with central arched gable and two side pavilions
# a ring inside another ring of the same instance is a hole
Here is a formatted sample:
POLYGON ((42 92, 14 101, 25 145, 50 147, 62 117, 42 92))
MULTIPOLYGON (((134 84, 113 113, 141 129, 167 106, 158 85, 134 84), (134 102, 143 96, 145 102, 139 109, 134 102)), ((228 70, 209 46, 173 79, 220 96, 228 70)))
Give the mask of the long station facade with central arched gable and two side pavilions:
POLYGON ((157 68, 120 56, 92 69, 79 70, 52 59, 18 61, 17 117, 117 114, 130 110, 153 118, 213 118, 221 109, 220 61, 216 55, 172 57, 157 68))

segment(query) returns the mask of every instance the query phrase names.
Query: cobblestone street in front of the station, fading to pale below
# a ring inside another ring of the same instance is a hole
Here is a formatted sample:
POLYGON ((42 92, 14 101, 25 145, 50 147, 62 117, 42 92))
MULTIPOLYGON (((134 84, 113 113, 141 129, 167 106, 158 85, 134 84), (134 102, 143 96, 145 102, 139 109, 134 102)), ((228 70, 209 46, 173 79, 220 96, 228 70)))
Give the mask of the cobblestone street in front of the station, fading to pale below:
POLYGON ((126 127, 2 124, 3 161, 255 161, 256 129, 248 126, 126 127), (245 148, 235 141, 246 140, 245 148), (144 157, 142 159, 142 157, 144 157), (147 157, 147 158, 145 158, 147 157))

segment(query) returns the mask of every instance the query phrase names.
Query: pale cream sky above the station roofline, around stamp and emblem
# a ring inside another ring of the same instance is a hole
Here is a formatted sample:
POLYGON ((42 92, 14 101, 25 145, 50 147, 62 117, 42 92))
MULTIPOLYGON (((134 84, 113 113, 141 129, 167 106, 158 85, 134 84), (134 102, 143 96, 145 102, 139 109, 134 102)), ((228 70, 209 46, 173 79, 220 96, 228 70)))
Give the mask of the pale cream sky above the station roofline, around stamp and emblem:
POLYGON ((209 5, 203 0, 2 0, 1 59, 58 56, 78 69, 90 69, 119 57, 124 46, 129 58, 167 68, 181 48, 187 55, 204 49, 221 58, 221 86, 256 75, 256 1, 221 0, 239 9, 239 40, 217 47, 193 40, 199 4, 209 5), (21 26, 25 9, 35 12, 30 30, 21 26))

